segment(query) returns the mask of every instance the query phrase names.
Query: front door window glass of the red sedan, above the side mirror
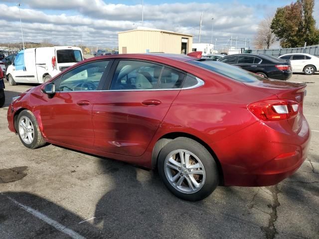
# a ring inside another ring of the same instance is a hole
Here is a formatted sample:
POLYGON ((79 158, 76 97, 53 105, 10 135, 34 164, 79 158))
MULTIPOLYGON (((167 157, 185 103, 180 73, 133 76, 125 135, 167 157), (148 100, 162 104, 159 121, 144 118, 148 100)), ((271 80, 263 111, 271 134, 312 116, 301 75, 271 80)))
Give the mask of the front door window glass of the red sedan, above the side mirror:
POLYGON ((94 91, 110 61, 95 61, 79 66, 62 76, 57 91, 94 91))

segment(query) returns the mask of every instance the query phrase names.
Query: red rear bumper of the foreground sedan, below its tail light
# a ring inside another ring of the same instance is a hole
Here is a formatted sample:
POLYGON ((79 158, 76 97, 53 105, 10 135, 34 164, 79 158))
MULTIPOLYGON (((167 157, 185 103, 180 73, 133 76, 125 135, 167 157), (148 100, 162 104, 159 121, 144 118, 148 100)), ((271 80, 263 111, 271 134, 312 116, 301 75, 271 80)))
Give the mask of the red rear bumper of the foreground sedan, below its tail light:
POLYGON ((298 134, 258 121, 210 146, 221 163, 224 185, 269 186, 302 165, 310 138, 305 118, 298 134))

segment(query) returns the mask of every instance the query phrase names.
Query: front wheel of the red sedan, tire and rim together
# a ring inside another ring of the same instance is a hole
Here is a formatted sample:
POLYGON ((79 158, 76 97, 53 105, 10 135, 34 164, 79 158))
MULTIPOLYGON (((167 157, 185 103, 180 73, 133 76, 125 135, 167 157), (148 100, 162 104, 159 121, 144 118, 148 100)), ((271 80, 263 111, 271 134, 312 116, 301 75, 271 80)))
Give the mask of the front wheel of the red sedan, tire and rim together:
POLYGON ((39 125, 28 110, 21 111, 17 117, 16 129, 23 145, 27 148, 38 148, 45 144, 45 140, 40 132, 39 125), (25 130, 27 135, 25 135, 25 130))

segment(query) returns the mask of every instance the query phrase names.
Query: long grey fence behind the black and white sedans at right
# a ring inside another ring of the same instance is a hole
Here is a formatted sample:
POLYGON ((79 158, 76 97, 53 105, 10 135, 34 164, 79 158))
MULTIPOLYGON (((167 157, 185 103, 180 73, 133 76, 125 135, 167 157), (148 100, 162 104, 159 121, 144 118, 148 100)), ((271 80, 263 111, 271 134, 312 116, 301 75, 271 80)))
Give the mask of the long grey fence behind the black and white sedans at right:
POLYGON ((289 53, 308 53, 314 56, 319 56, 319 45, 296 47, 296 48, 279 48, 279 49, 264 49, 264 50, 252 50, 253 54, 268 54, 272 56, 281 56, 289 53))

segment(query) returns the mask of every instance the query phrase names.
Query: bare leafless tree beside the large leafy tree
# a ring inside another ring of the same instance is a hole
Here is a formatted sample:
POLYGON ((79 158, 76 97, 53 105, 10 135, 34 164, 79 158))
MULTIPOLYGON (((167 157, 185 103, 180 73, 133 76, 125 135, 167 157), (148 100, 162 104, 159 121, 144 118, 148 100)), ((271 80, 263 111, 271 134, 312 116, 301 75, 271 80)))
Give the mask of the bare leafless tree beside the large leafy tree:
POLYGON ((276 35, 270 28, 273 18, 273 16, 268 16, 258 24, 258 30, 255 36, 255 47, 257 49, 269 49, 269 47, 276 42, 276 35))

